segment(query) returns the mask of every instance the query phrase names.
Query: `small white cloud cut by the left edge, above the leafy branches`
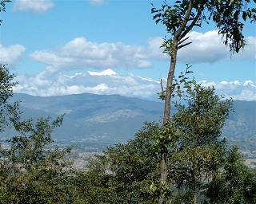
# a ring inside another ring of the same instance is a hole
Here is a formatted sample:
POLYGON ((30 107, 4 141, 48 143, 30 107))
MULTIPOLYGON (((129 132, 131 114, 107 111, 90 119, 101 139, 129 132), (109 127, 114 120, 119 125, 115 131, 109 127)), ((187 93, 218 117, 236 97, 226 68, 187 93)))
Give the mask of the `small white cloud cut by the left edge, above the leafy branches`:
POLYGON ((0 64, 7 63, 10 68, 14 68, 17 62, 21 59, 25 49, 26 48, 23 45, 10 45, 4 47, 0 44, 0 64))

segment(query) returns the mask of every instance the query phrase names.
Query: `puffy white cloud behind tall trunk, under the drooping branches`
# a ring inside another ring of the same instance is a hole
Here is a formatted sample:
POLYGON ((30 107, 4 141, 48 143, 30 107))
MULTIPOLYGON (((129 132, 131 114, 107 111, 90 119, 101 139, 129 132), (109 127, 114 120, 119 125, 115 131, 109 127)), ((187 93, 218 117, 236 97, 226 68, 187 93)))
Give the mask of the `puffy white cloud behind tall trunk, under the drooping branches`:
MULTIPOLYGON (((246 46, 239 53, 230 53, 230 49, 222 42, 222 36, 218 35, 218 30, 210 30, 206 33, 190 32, 186 37, 190 37, 186 42, 190 45, 178 50, 178 61, 182 63, 214 63, 224 59, 233 60, 256 60, 256 37, 246 37, 246 46)), ((162 53, 162 37, 154 37, 148 40, 146 57, 158 60, 169 60, 170 57, 162 53)))

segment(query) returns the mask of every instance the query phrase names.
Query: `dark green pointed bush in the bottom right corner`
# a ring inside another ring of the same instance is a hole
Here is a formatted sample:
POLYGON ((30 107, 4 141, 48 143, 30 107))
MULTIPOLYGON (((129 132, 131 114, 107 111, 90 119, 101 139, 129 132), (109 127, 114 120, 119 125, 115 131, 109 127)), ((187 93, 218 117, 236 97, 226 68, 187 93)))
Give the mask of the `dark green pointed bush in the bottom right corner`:
POLYGON ((225 163, 206 184, 206 203, 256 203, 256 174, 246 167, 234 146, 225 154, 225 163))

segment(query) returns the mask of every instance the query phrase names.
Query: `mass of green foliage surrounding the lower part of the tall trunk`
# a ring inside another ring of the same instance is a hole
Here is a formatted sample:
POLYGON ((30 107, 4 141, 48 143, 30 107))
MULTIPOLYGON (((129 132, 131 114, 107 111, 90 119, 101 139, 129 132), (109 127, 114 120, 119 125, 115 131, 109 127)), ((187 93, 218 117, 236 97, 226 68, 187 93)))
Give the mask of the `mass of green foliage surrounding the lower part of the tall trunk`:
MULTIPOLYGON (((222 101, 214 88, 190 84, 186 102, 176 104, 178 112, 166 127, 146 123, 134 139, 108 147, 103 155, 91 160, 82 177, 86 203, 155 203, 160 194, 170 203, 210 200, 204 192, 210 194, 214 177, 222 175, 222 169, 230 163, 227 155, 232 151, 220 136, 232 100, 222 101), (158 179, 158 165, 166 148, 169 175, 163 185, 158 179)), ((242 160, 238 165, 244 167, 242 160)), ((254 182, 249 180, 246 187, 253 189, 254 182)), ((222 181, 228 185, 228 181, 222 181)), ((255 196, 254 191, 247 191, 250 197, 255 196)))

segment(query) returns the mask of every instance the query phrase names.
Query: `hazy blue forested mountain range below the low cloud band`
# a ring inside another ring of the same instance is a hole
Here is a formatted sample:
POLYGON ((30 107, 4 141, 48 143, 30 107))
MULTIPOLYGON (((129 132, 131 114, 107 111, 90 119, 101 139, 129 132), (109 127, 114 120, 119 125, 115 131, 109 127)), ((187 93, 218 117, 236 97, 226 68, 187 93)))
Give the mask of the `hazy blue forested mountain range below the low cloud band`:
MULTIPOLYGON (((69 96, 30 96, 15 93, 25 118, 66 113, 62 127, 54 131, 58 143, 101 148, 126 142, 146 121, 161 120, 163 103, 118 95, 83 93, 69 96)), ((223 131, 228 139, 250 139, 256 135, 256 101, 234 101, 234 110, 223 131)), ((2 139, 12 133, 7 130, 2 139)))

